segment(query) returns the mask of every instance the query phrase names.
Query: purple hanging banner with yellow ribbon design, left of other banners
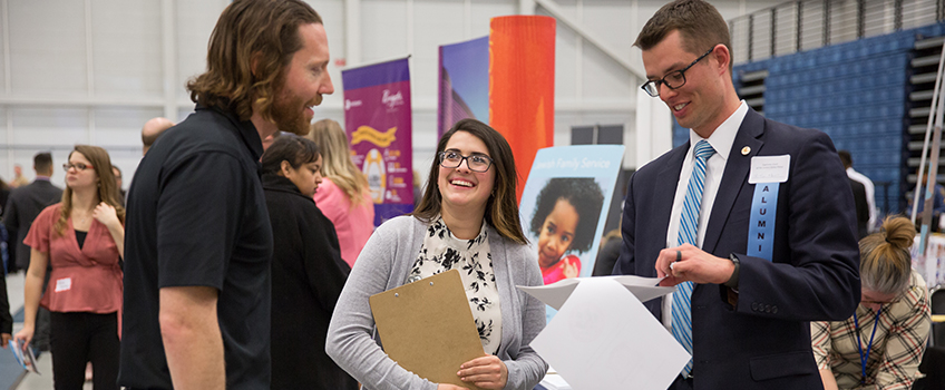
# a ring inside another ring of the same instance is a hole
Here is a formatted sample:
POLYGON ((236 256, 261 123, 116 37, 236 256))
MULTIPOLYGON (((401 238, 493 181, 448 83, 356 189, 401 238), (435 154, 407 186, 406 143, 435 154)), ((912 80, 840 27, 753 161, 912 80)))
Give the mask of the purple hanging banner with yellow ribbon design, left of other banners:
POLYGON ((354 165, 368 176, 374 226, 413 211, 408 59, 341 71, 344 129, 354 165))

